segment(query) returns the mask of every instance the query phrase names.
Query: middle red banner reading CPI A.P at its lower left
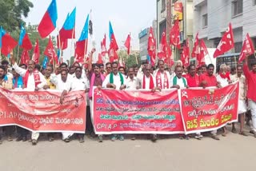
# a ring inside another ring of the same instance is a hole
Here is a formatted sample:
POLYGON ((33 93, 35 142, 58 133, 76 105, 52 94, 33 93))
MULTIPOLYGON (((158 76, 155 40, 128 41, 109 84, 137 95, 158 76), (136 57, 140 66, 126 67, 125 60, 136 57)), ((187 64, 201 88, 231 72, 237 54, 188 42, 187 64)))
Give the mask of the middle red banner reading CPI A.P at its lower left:
POLYGON ((92 114, 97 134, 184 133, 177 89, 94 89, 92 114))

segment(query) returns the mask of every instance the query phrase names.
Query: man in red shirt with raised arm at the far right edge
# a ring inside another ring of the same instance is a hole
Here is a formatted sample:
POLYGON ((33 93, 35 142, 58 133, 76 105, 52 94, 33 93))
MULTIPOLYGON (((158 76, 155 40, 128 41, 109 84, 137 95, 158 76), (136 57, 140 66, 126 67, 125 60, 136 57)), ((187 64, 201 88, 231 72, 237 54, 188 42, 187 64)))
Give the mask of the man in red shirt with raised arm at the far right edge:
POLYGON ((246 62, 243 66, 243 72, 246 76, 247 84, 248 84, 248 91, 247 91, 247 98, 248 98, 248 105, 251 112, 251 118, 253 122, 253 132, 254 137, 256 137, 256 62, 251 64, 252 70, 249 70, 248 67, 248 59, 246 58, 246 62))

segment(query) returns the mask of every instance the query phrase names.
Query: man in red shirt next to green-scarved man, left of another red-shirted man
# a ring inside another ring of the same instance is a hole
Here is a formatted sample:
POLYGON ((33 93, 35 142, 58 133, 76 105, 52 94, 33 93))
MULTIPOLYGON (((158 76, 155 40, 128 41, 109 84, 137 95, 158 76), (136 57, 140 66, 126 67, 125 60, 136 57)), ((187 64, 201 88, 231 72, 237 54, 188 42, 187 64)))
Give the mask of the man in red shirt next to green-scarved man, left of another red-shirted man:
POLYGON ((198 87, 199 86, 199 76, 196 73, 196 68, 194 64, 191 64, 188 67, 189 74, 184 75, 183 77, 186 78, 187 85, 189 87, 198 87))

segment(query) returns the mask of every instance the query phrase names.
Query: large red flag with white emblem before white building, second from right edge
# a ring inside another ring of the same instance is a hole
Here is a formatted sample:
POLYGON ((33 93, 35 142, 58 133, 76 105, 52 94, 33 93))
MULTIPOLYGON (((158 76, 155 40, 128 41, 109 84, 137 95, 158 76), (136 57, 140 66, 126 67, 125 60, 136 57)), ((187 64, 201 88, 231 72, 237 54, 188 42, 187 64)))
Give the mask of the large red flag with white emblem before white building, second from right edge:
POLYGON ((231 24, 229 25, 226 32, 223 34, 221 42, 219 42, 217 49, 214 52, 214 58, 219 55, 226 53, 227 51, 234 48, 234 36, 231 24))

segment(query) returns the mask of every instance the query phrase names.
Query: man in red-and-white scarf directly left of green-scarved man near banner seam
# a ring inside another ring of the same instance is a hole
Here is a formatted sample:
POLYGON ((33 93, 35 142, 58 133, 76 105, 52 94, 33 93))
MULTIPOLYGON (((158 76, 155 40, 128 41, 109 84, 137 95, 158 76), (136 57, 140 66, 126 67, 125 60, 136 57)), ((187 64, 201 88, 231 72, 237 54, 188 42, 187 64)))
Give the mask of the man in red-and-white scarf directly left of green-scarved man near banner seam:
POLYGON ((160 89, 170 88, 170 73, 165 70, 165 63, 162 60, 158 60, 158 70, 154 72, 154 79, 160 89))

